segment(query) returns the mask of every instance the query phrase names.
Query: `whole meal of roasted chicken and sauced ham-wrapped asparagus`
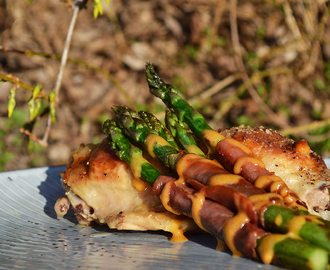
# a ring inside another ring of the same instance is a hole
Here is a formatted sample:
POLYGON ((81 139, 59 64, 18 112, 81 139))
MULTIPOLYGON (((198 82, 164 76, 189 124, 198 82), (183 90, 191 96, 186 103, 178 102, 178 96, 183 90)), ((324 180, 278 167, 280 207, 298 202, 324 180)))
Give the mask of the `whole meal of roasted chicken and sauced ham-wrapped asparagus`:
POLYGON ((288 146, 284 139, 267 137, 280 135, 266 129, 215 131, 150 64, 146 76, 150 92, 168 107, 167 129, 150 113, 114 107, 115 118, 103 125, 107 139, 72 154, 63 175, 67 198, 58 200, 57 213, 65 214, 71 204, 81 223, 160 229, 175 239, 198 226, 234 256, 293 269, 326 269, 330 221, 311 214, 327 217, 328 203, 315 200, 317 192, 327 192, 322 159, 310 154, 303 141, 288 146), (291 157, 299 162, 289 163, 291 157), (274 170, 280 162, 289 165, 274 170), (297 175, 309 181, 307 173, 299 174, 302 167, 325 185, 315 189, 310 184, 304 192, 299 184, 291 185, 297 175))

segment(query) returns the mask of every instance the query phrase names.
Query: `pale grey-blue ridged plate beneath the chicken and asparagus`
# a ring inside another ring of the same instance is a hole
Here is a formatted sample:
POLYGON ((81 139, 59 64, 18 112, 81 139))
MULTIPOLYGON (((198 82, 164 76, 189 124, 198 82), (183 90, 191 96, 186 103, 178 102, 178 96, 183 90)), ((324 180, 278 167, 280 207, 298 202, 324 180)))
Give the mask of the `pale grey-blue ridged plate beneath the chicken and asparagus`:
POLYGON ((81 228, 73 212, 57 218, 64 170, 0 173, 0 269, 279 269, 218 252, 210 235, 173 244, 163 232, 81 228))

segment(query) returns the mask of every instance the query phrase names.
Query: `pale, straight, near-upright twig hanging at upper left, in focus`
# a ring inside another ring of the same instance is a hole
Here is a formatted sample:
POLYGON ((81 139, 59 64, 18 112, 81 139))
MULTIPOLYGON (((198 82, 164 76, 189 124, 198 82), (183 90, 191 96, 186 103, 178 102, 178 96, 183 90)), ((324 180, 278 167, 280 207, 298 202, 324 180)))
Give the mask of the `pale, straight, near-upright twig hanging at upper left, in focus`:
MULTIPOLYGON (((69 26, 69 29, 68 29, 68 33, 67 33, 67 36, 66 36, 65 43, 64 43, 64 49, 63 49, 63 54, 62 54, 62 58, 61 58, 61 64, 60 64, 59 72, 58 72, 57 79, 56 79, 56 82, 55 82, 55 87, 54 87, 54 91, 55 91, 55 94, 56 94, 57 98, 58 98, 58 94, 60 92, 60 87, 61 87, 62 79, 63 79, 63 73, 64 73, 64 69, 65 69, 65 66, 66 66, 68 53, 69 53, 69 49, 70 49, 70 45, 71 45, 72 33, 73 33, 74 27, 75 27, 76 22, 77 22, 79 11, 86 5, 87 1, 88 0, 79 0, 79 1, 77 1, 77 3, 75 4, 75 7, 73 9, 73 14, 72 14, 70 26, 69 26)), ((57 102, 58 101, 56 101, 56 103, 57 102)), ((47 119, 45 134, 44 134, 44 137, 42 139, 42 143, 47 143, 47 141, 48 141, 51 124, 52 124, 52 117, 49 114, 48 119, 47 119)))

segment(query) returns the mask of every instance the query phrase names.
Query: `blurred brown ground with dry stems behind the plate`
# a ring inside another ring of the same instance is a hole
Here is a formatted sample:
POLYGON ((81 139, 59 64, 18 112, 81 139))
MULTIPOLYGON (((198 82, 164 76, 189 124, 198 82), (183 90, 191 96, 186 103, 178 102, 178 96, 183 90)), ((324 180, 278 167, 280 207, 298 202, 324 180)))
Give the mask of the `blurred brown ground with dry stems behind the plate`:
MULTIPOLYGON (((54 89, 74 1, 0 0, 0 74, 54 89)), ((214 128, 265 126, 330 157, 330 28, 325 0, 102 0, 81 10, 47 146, 32 92, 0 84, 0 171, 65 164, 100 142, 111 106, 163 117, 146 62, 214 128), (38 143, 39 141, 39 143, 38 143)))

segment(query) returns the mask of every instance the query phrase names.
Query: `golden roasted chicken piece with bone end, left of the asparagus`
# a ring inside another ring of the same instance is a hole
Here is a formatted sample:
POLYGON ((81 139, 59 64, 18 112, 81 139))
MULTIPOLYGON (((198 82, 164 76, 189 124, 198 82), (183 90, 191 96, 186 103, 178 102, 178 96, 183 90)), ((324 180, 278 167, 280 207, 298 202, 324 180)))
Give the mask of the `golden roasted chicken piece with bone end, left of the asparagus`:
POLYGON ((134 178, 129 166, 101 144, 81 145, 62 176, 66 197, 58 199, 59 216, 73 206, 80 224, 107 224, 118 230, 164 230, 171 240, 184 241, 183 232, 197 228, 192 219, 164 209, 152 187, 134 178))

